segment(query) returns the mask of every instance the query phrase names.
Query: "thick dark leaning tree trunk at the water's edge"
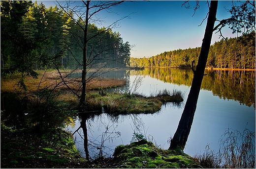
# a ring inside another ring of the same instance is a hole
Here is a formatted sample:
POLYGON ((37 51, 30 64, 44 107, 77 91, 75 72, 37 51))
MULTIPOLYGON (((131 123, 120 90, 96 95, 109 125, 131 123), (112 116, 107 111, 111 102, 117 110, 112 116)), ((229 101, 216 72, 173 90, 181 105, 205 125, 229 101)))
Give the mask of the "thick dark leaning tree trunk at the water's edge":
POLYGON ((171 140, 169 149, 180 148, 183 150, 188 140, 196 109, 197 99, 204 76, 206 61, 211 45, 213 28, 216 21, 217 6, 218 1, 212 0, 210 4, 209 16, 207 19, 201 51, 198 58, 198 64, 196 66, 196 70, 194 71, 194 77, 190 93, 185 104, 185 108, 183 110, 178 128, 173 136, 173 139, 171 140))

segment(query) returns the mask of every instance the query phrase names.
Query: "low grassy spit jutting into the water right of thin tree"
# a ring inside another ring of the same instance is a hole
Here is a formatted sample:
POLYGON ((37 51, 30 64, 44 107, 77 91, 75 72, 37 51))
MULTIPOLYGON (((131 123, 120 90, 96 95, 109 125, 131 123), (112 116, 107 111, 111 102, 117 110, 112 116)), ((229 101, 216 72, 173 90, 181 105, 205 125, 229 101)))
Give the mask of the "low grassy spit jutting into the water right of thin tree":
POLYGON ((157 96, 144 97, 142 95, 129 95, 120 93, 90 93, 87 95, 87 102, 93 110, 104 108, 105 113, 110 114, 139 114, 155 113, 160 110, 166 102, 181 102, 181 94, 176 92, 172 96, 166 90, 157 96))

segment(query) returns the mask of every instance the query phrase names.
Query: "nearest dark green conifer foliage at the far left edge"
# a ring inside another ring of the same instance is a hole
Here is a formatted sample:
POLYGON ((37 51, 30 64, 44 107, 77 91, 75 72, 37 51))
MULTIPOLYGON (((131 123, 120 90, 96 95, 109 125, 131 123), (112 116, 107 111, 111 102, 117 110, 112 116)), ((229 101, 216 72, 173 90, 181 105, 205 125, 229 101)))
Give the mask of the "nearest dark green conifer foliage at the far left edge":
MULTIPOLYGON (((36 23, 32 16, 32 1, 1 1, 1 69, 5 73, 16 71, 37 77, 32 66, 38 59, 43 39, 36 36, 36 23), (5 64, 5 61, 7 65, 5 64)), ((24 85, 22 81, 20 85, 24 85)))

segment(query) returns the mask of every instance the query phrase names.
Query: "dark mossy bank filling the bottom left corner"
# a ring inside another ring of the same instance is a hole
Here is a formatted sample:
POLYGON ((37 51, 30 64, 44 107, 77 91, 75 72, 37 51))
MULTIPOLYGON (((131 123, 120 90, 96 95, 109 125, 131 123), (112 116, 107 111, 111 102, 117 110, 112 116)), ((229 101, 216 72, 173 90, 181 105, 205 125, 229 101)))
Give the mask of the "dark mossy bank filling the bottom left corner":
POLYGON ((52 129, 11 130, 1 125, 1 168, 80 168, 89 167, 81 158, 71 134, 52 129))

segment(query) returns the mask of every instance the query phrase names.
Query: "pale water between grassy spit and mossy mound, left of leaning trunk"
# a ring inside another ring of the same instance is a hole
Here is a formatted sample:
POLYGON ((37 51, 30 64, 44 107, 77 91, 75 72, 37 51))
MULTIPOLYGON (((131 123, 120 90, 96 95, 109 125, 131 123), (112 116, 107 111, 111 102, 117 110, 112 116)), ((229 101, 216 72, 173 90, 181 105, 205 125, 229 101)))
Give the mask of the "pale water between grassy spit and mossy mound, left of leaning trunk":
MULTIPOLYGON (((167 103, 162 106, 162 109, 179 110, 179 107, 167 103)), ((70 126, 67 130, 71 133, 76 131, 73 134, 75 145, 84 158, 86 157, 84 143, 88 145, 89 159, 96 159, 100 156, 111 157, 117 145, 127 145, 132 142, 134 133, 142 134, 147 140, 162 148, 163 145, 168 145, 168 139, 170 137, 170 135, 166 134, 166 138, 162 140, 164 136, 157 131, 159 127, 154 126, 163 127, 162 125, 166 124, 165 121, 159 124, 160 119, 163 118, 162 113, 162 110, 160 110, 155 114, 128 114, 119 116, 100 114, 90 117, 81 116, 80 119, 78 118, 75 121, 76 126, 74 128, 70 126), (86 130, 79 129, 81 121, 86 121, 86 130), (86 139, 85 131, 87 132, 87 140, 84 140, 86 139), (156 132, 160 135, 155 135, 154 133, 156 132)), ((171 128, 177 126, 180 118, 179 114, 177 117, 172 118, 171 128), (177 121, 177 124, 174 121, 177 121)))

